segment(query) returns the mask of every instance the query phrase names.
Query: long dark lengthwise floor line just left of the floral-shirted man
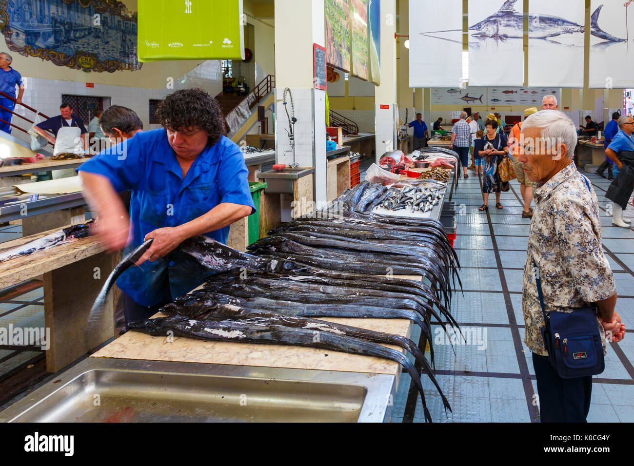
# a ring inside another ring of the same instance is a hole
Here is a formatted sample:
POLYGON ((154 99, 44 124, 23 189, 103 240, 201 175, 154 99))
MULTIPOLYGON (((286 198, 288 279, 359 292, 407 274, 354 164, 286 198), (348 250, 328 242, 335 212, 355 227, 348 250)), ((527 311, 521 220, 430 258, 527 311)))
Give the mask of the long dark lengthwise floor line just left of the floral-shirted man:
MULTIPOLYGON (((482 187, 482 178, 478 176, 479 183, 482 187)), ((484 200, 484 197, 483 197, 484 200)), ((515 346, 515 356, 517 357, 517 365, 519 366, 520 374, 522 377, 522 385, 524 386, 524 396, 526 398, 526 407, 528 410, 529 417, 531 422, 538 422, 539 411, 536 406, 531 404, 533 399, 533 384, 529 380, 529 371, 528 371, 528 363, 526 362, 526 356, 524 356, 524 352, 522 351, 522 343, 521 337, 519 335, 519 329, 517 328, 517 321, 515 320, 515 313, 513 310, 513 302, 511 301, 511 296, 508 293, 507 287, 507 279, 504 275, 504 271, 502 268, 502 261, 500 258, 500 252, 497 249, 498 243, 495 238, 495 231, 493 230, 493 224, 491 223, 491 214, 489 214, 488 210, 485 210, 486 219, 489 224, 489 232, 491 233, 491 244, 493 245, 493 254, 495 256, 495 262, 498 265, 498 275, 500 275, 500 283, 502 286, 502 292, 504 294, 504 303, 507 307, 507 315, 508 315, 508 323, 515 327, 510 327, 511 335, 513 338, 513 344, 515 346)))

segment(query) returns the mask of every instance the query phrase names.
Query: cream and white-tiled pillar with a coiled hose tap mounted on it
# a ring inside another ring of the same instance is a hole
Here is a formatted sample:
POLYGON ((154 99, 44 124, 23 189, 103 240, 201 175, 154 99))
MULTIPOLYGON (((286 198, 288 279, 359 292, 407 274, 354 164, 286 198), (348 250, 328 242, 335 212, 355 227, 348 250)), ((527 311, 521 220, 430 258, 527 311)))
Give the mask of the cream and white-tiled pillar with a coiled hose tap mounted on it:
MULTIPOLYGON (((289 87, 295 107, 295 162, 314 167, 314 200, 326 202, 326 96, 314 89, 313 43, 325 46, 325 16, 321 0, 275 2, 276 162, 290 164, 288 118, 282 105, 289 87), (289 151, 284 153, 285 151, 289 151)), ((290 100, 287 110, 291 113, 290 100)))

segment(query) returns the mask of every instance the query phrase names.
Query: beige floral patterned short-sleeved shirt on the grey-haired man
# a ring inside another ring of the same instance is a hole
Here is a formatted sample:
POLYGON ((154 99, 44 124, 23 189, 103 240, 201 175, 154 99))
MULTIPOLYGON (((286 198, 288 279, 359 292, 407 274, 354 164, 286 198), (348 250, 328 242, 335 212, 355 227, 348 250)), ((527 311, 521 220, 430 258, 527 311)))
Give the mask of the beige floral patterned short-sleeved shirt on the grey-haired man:
MULTIPOLYGON (((524 342, 533 353, 547 356, 544 326, 533 259, 541 278, 547 313, 573 312, 575 307, 601 301, 616 292, 612 269, 601 247, 597 195, 571 163, 546 183, 538 185, 528 252, 524 265, 522 309, 524 342)), ((605 332, 598 323, 605 352, 605 332)))

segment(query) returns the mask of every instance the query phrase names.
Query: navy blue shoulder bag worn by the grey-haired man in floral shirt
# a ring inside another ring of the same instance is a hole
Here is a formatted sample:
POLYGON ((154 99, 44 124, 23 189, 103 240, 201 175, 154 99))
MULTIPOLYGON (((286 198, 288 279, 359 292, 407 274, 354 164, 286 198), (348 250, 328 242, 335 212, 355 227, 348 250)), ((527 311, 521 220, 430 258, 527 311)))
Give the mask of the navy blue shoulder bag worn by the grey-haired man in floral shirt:
MULTIPOLYGON (((590 190, 587 179, 586 186, 590 190)), ((544 316, 541 336, 548 351, 550 364, 562 379, 602 373, 605 369, 605 361, 597 324, 597 309, 579 307, 571 313, 553 311, 547 314, 535 259, 533 259, 533 267, 541 312, 544 316)))

